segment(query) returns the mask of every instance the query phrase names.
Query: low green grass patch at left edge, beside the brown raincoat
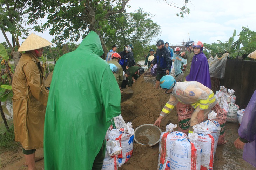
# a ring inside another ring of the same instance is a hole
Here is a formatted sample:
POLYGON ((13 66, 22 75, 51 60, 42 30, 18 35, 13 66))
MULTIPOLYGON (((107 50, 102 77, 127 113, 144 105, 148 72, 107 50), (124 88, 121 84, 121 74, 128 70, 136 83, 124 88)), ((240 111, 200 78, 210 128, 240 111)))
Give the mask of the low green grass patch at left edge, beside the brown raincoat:
POLYGON ((19 142, 15 142, 14 126, 9 126, 9 132, 0 132, 0 150, 4 151, 17 151, 21 147, 19 142))

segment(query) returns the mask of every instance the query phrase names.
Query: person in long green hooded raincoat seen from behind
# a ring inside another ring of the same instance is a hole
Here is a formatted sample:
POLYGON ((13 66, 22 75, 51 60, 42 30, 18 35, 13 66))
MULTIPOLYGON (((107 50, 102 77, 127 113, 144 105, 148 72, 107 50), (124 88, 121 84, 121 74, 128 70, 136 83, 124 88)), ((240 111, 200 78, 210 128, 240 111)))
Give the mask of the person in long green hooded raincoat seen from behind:
POLYGON ((121 114, 120 90, 102 54, 91 31, 56 63, 45 116, 45 170, 102 168, 110 119, 121 114))

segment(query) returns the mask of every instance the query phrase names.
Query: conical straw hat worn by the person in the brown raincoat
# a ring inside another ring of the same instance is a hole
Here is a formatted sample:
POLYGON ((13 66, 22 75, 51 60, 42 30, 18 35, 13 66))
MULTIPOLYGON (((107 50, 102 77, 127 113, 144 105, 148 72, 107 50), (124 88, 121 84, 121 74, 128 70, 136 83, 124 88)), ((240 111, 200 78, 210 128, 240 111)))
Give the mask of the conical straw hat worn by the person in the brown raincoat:
POLYGON ((47 41, 46 39, 31 33, 31 35, 29 35, 27 39, 25 39, 25 41, 21 44, 18 51, 36 50, 50 45, 53 44, 47 41))

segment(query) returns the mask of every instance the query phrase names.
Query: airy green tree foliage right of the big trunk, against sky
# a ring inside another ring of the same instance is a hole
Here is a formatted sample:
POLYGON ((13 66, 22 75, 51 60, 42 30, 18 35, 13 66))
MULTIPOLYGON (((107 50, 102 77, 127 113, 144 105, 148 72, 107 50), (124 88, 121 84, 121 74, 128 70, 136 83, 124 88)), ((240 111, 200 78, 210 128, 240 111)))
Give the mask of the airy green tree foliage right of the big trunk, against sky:
POLYGON ((125 45, 132 44, 134 58, 139 61, 140 57, 148 54, 150 48, 147 47, 151 40, 160 34, 160 26, 151 17, 141 8, 134 13, 119 13, 109 17, 109 25, 103 29, 102 35, 108 49, 117 45, 118 51, 122 51, 125 45))

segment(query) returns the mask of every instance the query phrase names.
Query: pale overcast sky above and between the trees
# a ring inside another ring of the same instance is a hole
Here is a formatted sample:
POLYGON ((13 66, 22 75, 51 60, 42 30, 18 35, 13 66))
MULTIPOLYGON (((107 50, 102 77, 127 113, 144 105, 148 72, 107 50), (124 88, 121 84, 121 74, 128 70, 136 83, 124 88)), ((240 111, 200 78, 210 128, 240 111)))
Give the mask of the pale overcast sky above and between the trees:
MULTIPOLYGON (((167 0, 168 1, 168 0, 167 0)), ((182 6, 183 0, 173 0, 182 6)), ((232 36, 234 29, 236 35, 242 30, 242 26, 256 31, 256 1, 254 0, 191 0, 188 3, 190 14, 183 19, 176 16, 179 9, 171 7, 164 0, 130 0, 126 8, 127 12, 134 12, 142 8, 145 12, 154 15, 151 19, 161 26, 161 35, 154 37, 164 42, 181 43, 189 40, 200 40, 204 43, 214 43, 217 40, 225 42, 232 36)), ((48 31, 37 35, 51 41, 48 31)), ((236 37, 238 39, 238 37, 236 37)), ((10 38, 11 40, 11 38, 10 38)), ((0 42, 5 41, 2 33, 0 42)), ((20 39, 20 42, 23 40, 20 39)), ((76 42, 77 44, 80 43, 76 42)))

